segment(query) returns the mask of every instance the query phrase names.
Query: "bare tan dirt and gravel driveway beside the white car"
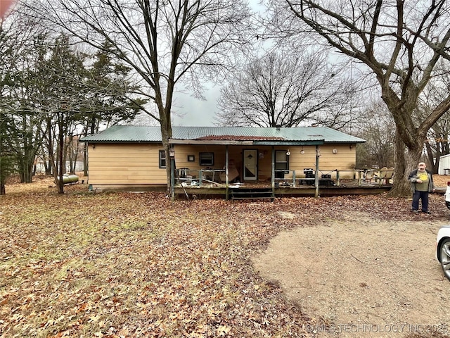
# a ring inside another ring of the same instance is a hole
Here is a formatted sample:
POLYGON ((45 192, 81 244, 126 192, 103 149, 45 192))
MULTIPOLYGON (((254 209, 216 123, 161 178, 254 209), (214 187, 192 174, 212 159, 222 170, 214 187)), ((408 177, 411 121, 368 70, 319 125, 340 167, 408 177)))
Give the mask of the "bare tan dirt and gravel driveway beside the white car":
POLYGON ((330 325, 310 325, 317 337, 443 337, 450 282, 434 256, 443 223, 422 217, 374 222, 354 211, 282 232, 252 261, 304 313, 330 325))

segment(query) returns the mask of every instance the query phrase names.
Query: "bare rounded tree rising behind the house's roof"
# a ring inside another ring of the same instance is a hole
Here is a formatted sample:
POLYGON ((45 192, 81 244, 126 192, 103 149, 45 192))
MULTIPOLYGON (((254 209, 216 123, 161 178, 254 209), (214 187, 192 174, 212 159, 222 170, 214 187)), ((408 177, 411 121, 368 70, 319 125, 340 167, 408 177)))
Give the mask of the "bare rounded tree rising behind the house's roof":
POLYGON ((221 90, 219 124, 297 127, 347 120, 327 115, 348 102, 350 86, 338 80, 339 70, 330 69, 326 58, 324 51, 283 51, 250 61, 221 90))

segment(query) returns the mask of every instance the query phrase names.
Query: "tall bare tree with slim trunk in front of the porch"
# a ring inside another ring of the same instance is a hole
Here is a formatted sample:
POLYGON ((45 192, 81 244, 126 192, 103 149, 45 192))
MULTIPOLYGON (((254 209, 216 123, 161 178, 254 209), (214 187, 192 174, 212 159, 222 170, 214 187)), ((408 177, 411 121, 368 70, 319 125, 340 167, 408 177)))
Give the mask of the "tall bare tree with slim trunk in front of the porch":
MULTIPOLYGON (((242 0, 42 0, 23 1, 32 15, 63 27, 82 42, 109 51, 127 63, 142 80, 145 95, 158 107, 147 113, 161 125, 169 158, 172 101, 176 84, 223 75, 239 47, 255 35, 248 32, 250 13, 242 0), (200 66, 200 67, 196 67, 200 66)), ((167 187, 170 187, 167 161, 167 187)))

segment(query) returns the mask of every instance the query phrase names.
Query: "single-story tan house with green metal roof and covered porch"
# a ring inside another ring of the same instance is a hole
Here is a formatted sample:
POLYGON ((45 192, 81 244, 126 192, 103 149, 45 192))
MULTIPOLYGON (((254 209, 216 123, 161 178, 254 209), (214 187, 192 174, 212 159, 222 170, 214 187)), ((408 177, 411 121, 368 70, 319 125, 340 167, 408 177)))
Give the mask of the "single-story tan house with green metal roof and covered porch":
POLYGON ((273 197, 282 187, 354 177, 356 144, 365 142, 327 127, 172 127, 167 158, 160 127, 116 125, 81 141, 92 189, 167 187, 173 161, 174 191, 215 189, 227 197, 245 184, 266 185, 273 197))

